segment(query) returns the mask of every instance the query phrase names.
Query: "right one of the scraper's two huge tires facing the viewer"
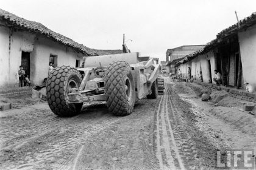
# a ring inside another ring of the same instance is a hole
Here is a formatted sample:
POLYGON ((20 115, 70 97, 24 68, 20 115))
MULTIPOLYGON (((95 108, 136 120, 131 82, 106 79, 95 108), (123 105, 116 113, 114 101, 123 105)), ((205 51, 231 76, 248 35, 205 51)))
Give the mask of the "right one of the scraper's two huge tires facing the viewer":
POLYGON ((116 116, 132 113, 135 104, 135 83, 130 66, 125 61, 115 61, 105 72, 107 107, 116 116))

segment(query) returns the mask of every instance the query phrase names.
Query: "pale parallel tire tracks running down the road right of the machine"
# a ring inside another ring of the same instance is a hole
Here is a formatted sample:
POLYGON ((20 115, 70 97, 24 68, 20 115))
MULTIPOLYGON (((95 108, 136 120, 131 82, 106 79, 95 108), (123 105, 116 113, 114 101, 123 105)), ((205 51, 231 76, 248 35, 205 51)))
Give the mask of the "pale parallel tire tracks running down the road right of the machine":
POLYGON ((182 110, 177 107, 177 97, 171 84, 165 84, 165 94, 161 97, 155 116, 155 155, 160 169, 189 169, 188 161, 196 158, 195 143, 186 130, 182 110))

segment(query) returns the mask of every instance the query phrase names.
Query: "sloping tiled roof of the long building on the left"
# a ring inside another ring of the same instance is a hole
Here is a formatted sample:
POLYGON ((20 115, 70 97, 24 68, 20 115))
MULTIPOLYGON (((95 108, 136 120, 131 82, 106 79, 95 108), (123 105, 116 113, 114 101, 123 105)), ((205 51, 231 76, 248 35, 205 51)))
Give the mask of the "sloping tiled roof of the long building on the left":
POLYGON ((83 44, 79 44, 76 41, 73 41, 73 39, 70 39, 66 36, 63 36, 59 33, 53 32, 52 30, 45 27, 43 24, 35 21, 29 21, 24 18, 20 18, 19 16, 16 16, 10 12, 7 12, 5 10, 0 9, 0 19, 6 22, 7 25, 12 25, 16 29, 23 29, 27 30, 29 32, 33 33, 40 33, 41 35, 47 36, 48 38, 54 39, 54 41, 60 42, 65 46, 69 46, 75 50, 78 50, 79 52, 82 52, 84 54, 87 54, 89 56, 94 55, 108 55, 121 52, 123 53, 123 50, 96 50, 96 49, 90 49, 83 44))

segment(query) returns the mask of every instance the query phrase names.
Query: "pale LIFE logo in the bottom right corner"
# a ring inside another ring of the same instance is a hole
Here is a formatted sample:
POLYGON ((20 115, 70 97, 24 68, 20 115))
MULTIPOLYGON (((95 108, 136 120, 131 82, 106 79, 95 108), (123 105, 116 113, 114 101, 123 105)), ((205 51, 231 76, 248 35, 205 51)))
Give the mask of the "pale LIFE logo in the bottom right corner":
POLYGON ((216 152, 216 167, 230 169, 254 169, 254 149, 232 149, 230 151, 216 152))

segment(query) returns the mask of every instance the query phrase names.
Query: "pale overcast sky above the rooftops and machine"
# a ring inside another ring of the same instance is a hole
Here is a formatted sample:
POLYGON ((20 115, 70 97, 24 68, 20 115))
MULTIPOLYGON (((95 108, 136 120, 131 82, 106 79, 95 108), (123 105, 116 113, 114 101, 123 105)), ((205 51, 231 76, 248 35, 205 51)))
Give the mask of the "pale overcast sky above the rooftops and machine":
POLYGON ((93 49, 122 49, 165 61, 166 50, 206 44, 256 12, 255 0, 0 0, 0 8, 93 49), (130 41, 129 39, 132 39, 130 41))

